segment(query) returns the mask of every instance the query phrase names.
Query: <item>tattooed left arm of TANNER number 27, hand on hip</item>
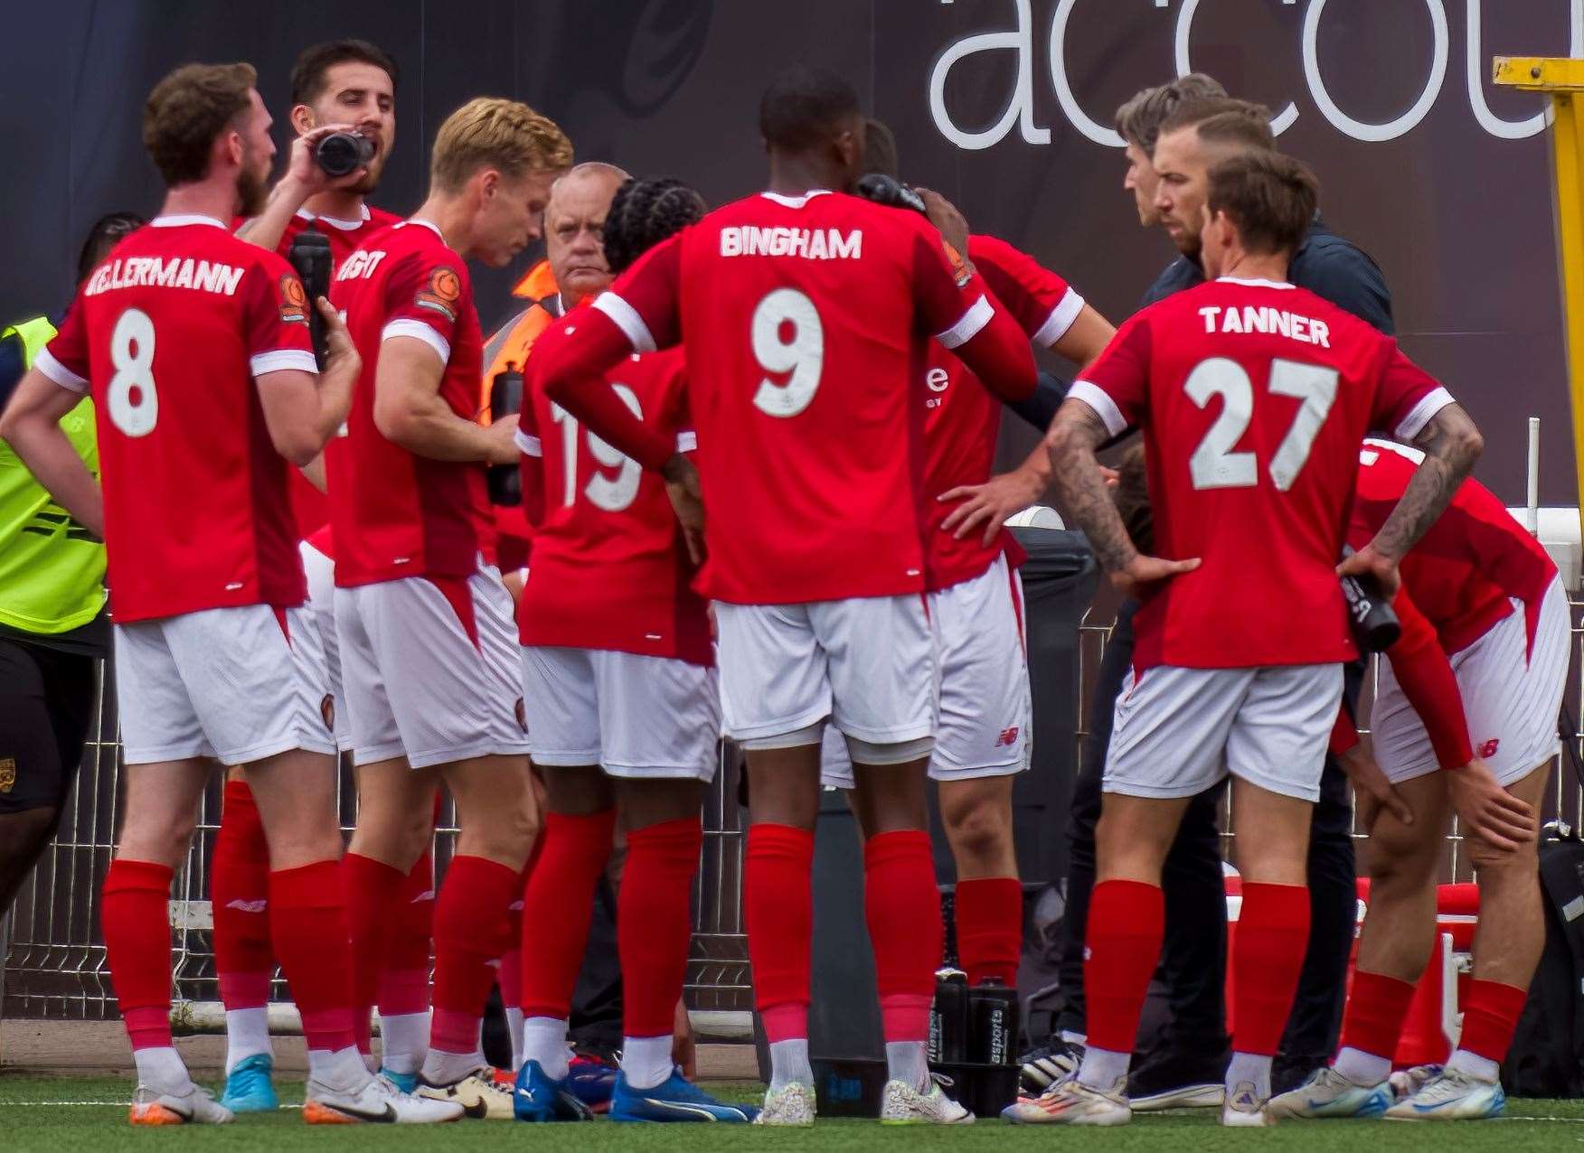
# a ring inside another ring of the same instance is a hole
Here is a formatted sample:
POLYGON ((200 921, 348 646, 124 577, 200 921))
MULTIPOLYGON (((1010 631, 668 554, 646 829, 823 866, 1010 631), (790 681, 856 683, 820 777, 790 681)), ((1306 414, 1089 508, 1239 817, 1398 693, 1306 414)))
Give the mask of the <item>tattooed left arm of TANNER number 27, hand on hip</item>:
POLYGON ((1123 592, 1136 592, 1140 584, 1193 572, 1198 559, 1163 561, 1144 556, 1133 546, 1133 538, 1112 504, 1106 478, 1095 459, 1095 448, 1106 442, 1106 421, 1085 401, 1068 398, 1045 434, 1050 450, 1052 481, 1061 512, 1072 519, 1090 540, 1090 548, 1123 592))

